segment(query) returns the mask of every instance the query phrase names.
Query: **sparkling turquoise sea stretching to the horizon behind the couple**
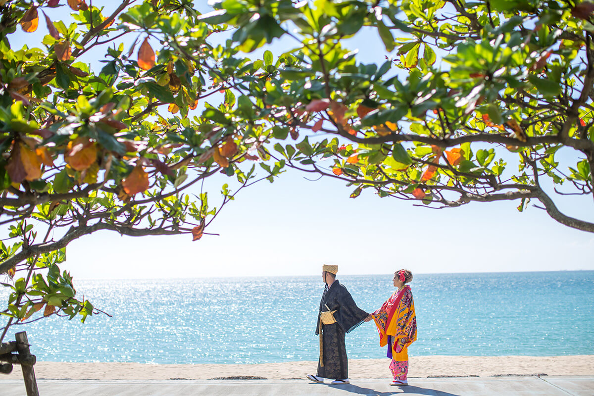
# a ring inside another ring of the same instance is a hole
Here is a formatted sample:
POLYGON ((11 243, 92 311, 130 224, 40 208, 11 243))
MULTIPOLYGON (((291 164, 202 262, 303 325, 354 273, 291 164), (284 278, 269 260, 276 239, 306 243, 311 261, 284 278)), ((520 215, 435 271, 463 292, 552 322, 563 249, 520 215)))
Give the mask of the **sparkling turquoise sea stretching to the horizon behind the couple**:
MULTIPOLYGON (((343 275, 365 311, 394 291, 392 275, 343 275)), ((78 281, 77 295, 112 317, 50 318, 27 331, 40 361, 269 363, 318 359, 320 276, 78 281)), ((418 274, 418 341, 409 354, 594 354, 594 271, 418 274)), ((5 301, 7 293, 0 291, 5 301)), ((0 318, 1 319, 1 318, 0 318)), ((4 319, 2 324, 4 324, 4 319)), ((346 335, 352 359, 381 358, 372 322, 346 335)))

